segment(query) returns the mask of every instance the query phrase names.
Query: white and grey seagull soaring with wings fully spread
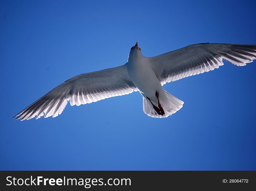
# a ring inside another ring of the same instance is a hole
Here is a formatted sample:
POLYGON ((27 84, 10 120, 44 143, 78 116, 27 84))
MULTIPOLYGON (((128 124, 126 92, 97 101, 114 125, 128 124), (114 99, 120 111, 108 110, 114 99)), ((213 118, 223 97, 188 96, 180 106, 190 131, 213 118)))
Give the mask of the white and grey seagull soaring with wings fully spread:
POLYGON ((144 57, 136 42, 122 66, 84 73, 63 82, 13 118, 21 121, 44 116, 57 117, 67 102, 81 105, 139 91, 143 112, 150 117, 168 117, 184 104, 166 92, 168 82, 209 72, 223 65, 223 59, 245 66, 256 59, 256 45, 199 43, 155 57, 144 57))

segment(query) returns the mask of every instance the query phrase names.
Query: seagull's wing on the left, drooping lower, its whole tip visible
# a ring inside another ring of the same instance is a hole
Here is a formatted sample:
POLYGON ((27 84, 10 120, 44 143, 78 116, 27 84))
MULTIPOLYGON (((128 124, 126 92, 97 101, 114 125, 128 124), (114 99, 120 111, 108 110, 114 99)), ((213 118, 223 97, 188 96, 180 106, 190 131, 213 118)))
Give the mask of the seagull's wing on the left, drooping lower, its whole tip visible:
POLYGON ((43 97, 19 112, 13 118, 29 120, 44 116, 56 117, 62 113, 67 101, 70 105, 96 102, 105 98, 137 91, 127 72, 127 65, 80 74, 63 82, 43 97))

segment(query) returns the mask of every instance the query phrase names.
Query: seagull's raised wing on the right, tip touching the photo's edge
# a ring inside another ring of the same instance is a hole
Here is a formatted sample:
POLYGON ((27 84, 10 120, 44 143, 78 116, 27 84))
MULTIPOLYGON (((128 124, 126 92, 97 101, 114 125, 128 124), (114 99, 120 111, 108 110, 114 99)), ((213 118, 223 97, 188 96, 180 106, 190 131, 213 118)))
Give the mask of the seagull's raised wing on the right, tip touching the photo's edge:
POLYGON ((256 59, 256 45, 201 43, 148 58, 164 85, 223 65, 222 59, 237 66, 256 59))

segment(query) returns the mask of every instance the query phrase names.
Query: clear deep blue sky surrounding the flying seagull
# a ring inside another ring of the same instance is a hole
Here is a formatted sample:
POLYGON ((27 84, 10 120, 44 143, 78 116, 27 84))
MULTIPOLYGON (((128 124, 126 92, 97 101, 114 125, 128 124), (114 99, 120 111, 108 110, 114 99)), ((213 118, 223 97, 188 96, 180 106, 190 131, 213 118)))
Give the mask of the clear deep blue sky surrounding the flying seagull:
POLYGON ((0 170, 256 170, 256 61, 166 84, 185 103, 165 119, 143 113, 139 92, 12 119, 75 75, 126 63, 136 41, 147 57, 256 44, 255 5, 1 0, 0 170))

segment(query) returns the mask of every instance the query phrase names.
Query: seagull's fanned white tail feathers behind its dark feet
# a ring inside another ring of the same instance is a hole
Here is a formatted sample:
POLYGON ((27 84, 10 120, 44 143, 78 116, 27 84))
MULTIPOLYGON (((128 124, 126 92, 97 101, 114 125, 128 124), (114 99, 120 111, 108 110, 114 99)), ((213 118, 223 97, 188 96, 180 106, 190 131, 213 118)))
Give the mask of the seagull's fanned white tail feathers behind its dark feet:
POLYGON ((180 110, 184 104, 183 101, 178 99, 177 97, 174 97, 172 94, 168 93, 165 91, 166 97, 168 99, 167 103, 160 101, 163 110, 164 110, 164 115, 159 115, 157 114, 156 110, 154 110, 152 104, 148 99, 145 99, 143 97, 143 111, 145 114, 147 114, 150 117, 157 117, 157 118, 162 118, 162 117, 168 117, 174 113, 176 113, 178 110, 180 110))

